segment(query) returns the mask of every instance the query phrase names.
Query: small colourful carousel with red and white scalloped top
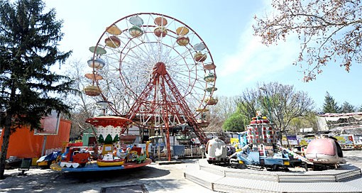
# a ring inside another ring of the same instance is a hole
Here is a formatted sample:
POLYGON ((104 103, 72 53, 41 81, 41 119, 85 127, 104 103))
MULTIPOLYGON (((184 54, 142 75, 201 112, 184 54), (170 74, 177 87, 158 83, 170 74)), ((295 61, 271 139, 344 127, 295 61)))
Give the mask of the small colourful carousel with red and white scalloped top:
POLYGON ((148 148, 138 147, 134 143, 136 138, 125 141, 119 137, 122 128, 131 123, 128 118, 101 114, 86 122, 94 126, 98 138, 94 151, 67 147, 61 161, 51 165, 51 169, 62 172, 123 170, 143 167, 152 162, 147 158, 148 148))

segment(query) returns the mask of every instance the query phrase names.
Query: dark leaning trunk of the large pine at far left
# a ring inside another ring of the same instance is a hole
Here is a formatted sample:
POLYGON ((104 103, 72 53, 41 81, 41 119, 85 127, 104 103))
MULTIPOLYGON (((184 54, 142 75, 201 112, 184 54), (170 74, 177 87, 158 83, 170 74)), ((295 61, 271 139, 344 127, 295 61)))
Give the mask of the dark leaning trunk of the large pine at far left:
POLYGON ((11 128, 11 114, 6 115, 5 128, 3 130, 3 144, 1 145, 1 155, 0 155, 0 180, 4 180, 5 164, 6 164, 6 155, 9 148, 10 140, 10 128, 11 128))

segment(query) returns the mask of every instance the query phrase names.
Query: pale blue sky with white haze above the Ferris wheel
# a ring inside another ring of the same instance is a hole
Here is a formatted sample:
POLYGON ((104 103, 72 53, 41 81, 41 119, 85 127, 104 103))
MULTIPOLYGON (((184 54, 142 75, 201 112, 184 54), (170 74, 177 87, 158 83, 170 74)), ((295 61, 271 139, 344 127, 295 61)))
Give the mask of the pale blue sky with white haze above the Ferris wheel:
MULTIPOLYGON (((286 42, 265 46, 253 35, 253 16, 272 11, 268 1, 94 1, 45 0, 63 21, 63 39, 59 49, 72 50, 70 61, 92 57, 90 46, 96 45, 106 26, 133 13, 162 13, 190 26, 204 40, 216 65, 216 96, 238 96, 258 83, 279 82, 307 92, 316 109, 322 109, 329 92, 341 105, 344 101, 361 106, 362 65, 346 72, 339 64, 324 67, 312 82, 302 81, 302 69, 292 63, 300 51, 300 42, 291 36, 286 42)), ((64 66, 64 65, 63 65, 64 66)))

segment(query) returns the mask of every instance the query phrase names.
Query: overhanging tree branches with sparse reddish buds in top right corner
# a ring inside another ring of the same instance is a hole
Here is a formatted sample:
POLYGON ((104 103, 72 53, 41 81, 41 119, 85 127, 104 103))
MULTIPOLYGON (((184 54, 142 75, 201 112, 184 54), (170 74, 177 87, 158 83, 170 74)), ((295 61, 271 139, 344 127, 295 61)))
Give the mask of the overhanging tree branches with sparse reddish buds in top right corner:
POLYGON ((273 0, 273 13, 255 16, 255 35, 271 45, 297 34, 301 42, 295 65, 304 68, 305 82, 335 62, 349 72, 362 62, 361 0, 273 0))

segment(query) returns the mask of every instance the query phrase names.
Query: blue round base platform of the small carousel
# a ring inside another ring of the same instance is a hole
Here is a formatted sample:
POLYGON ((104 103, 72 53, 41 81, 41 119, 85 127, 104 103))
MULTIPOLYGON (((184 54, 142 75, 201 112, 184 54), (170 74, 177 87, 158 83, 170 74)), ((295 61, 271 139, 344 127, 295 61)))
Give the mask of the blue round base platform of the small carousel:
POLYGON ((111 171, 111 170, 126 170, 136 167, 143 167, 150 164, 152 160, 147 159, 144 162, 125 162, 124 165, 112 166, 112 167, 99 167, 97 162, 88 162, 84 167, 60 167, 59 163, 53 163, 50 165, 50 169, 59 172, 97 172, 97 171, 111 171))

